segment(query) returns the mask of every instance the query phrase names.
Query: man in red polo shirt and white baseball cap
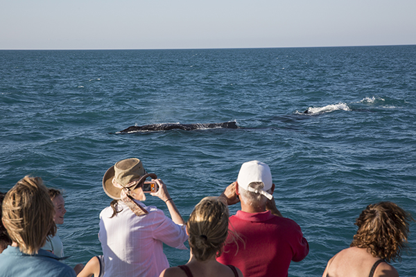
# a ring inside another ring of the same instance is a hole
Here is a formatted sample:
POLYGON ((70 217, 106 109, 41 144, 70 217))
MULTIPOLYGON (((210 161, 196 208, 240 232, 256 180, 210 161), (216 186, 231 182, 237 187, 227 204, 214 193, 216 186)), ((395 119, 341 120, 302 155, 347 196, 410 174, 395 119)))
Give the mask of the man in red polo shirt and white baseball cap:
POLYGON ((277 210, 274 190, 266 163, 243 163, 237 181, 221 195, 229 205, 241 202, 241 211, 229 217, 229 229, 241 240, 233 242, 229 236, 218 262, 238 267, 244 276, 286 277, 291 260, 299 262, 308 255, 300 226, 277 210))

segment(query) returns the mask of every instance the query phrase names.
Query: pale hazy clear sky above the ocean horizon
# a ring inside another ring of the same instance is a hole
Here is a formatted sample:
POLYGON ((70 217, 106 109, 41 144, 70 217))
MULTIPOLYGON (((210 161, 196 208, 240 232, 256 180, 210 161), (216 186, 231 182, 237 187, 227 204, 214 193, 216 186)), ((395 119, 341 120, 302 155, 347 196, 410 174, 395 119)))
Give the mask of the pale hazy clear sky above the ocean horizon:
POLYGON ((0 49, 416 44, 416 0, 0 0, 0 49))

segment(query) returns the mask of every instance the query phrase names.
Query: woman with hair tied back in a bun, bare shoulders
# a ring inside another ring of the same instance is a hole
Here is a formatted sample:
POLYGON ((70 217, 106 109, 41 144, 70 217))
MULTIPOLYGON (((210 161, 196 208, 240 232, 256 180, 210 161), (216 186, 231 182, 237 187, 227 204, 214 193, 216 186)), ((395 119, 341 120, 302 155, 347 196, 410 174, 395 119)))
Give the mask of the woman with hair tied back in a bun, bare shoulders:
POLYGON ((222 197, 205 197, 187 222, 191 258, 186 265, 162 271, 159 277, 242 277, 240 269, 222 265, 216 257, 228 236, 228 206, 222 197))

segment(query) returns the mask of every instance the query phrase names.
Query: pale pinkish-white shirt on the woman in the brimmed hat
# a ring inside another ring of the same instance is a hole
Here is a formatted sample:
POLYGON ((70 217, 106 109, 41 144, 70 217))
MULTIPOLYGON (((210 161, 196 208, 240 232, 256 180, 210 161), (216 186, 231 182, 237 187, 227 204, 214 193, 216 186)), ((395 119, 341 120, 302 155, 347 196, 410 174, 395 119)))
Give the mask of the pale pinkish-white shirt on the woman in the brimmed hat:
POLYGON ((155 206, 136 202, 149 213, 137 216, 121 201, 118 210, 123 211, 114 217, 110 218, 113 213, 111 207, 101 211, 98 236, 105 260, 104 277, 158 277, 169 267, 163 243, 187 249, 184 246, 188 239, 185 226, 175 224, 155 206))

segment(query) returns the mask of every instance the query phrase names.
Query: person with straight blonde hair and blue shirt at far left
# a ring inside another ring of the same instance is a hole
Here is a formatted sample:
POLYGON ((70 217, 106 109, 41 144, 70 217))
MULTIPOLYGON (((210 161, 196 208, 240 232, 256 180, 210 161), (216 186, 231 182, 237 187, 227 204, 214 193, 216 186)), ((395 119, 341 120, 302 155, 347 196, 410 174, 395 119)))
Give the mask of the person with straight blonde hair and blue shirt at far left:
POLYGON ((0 277, 73 277, 75 271, 53 253, 40 249, 55 235, 55 208, 40 177, 24 177, 3 200, 1 220, 12 245, 0 254, 0 277))

